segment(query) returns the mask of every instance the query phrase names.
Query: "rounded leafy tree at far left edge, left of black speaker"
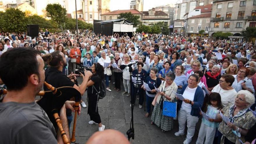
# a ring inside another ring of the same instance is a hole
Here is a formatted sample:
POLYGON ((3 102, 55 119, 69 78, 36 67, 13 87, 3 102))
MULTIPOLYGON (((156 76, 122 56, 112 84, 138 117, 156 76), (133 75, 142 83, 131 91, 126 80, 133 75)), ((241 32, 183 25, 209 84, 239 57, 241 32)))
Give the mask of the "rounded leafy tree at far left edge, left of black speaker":
POLYGON ((3 32, 26 31, 27 17, 25 13, 16 8, 8 8, 0 13, 0 29, 3 32))

